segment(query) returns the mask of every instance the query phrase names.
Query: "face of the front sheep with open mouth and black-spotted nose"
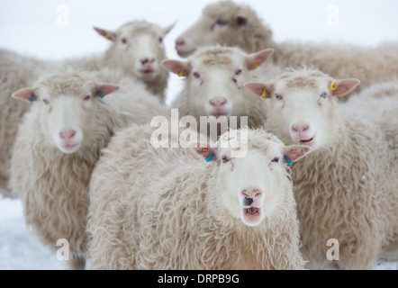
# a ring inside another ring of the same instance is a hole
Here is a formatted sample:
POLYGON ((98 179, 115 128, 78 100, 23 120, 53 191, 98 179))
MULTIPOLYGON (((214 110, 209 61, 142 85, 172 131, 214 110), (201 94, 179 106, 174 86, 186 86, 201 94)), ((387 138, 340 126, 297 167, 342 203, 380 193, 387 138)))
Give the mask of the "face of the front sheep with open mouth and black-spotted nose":
MULTIPOLYGON (((285 147, 263 130, 239 131, 239 140, 231 137, 231 131, 222 134, 219 148, 213 150, 217 193, 214 205, 222 205, 234 218, 254 227, 264 219, 271 219, 286 197, 291 196, 292 184, 286 172, 285 156, 294 162, 305 156, 310 148, 285 147), (246 150, 246 155, 234 153, 237 149, 246 150)), ((204 154, 203 149, 201 153, 204 154)), ((216 207, 212 209, 220 211, 216 207)))

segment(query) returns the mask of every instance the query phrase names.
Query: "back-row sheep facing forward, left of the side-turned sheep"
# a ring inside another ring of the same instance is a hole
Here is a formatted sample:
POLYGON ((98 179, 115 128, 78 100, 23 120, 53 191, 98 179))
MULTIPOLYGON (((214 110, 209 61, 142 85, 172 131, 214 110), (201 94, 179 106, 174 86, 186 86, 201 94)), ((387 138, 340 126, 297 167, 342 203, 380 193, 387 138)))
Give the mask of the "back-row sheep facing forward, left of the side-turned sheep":
POLYGON ((168 72, 160 62, 166 58, 163 39, 173 27, 171 24, 162 28, 146 21, 132 21, 116 31, 95 27, 95 31, 112 41, 110 48, 100 57, 70 59, 68 65, 85 70, 101 70, 104 66, 120 68, 124 75, 140 79, 164 102, 168 72))

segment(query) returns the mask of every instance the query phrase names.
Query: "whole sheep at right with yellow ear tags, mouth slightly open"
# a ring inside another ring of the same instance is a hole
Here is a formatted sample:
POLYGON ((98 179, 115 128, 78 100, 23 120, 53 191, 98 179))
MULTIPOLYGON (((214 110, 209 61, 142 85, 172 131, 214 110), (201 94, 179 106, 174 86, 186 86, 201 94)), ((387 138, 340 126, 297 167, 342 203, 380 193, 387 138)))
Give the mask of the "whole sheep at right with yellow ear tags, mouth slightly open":
POLYGON ((245 84, 268 102, 265 129, 286 145, 312 148, 292 169, 303 258, 310 268, 370 269, 398 235, 398 166, 391 157, 396 151, 372 117, 376 110, 394 111, 385 121, 396 123, 396 99, 390 106, 392 98, 385 97, 384 105, 382 97, 362 113, 338 104, 358 84, 309 67, 288 69, 267 84, 245 84), (333 239, 339 255, 327 257, 333 239))

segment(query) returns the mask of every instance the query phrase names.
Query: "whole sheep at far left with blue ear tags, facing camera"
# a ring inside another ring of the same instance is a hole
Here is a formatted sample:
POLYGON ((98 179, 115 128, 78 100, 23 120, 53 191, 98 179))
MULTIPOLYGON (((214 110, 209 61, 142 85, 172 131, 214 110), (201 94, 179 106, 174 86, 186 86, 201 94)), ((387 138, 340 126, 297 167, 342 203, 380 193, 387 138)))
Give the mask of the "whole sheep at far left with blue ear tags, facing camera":
POLYGON ((32 102, 32 108, 15 139, 10 189, 20 196, 26 224, 43 244, 55 248, 59 239, 68 240, 70 269, 85 267, 88 185, 100 150, 129 119, 150 119, 137 102, 140 95, 128 99, 125 92, 115 92, 118 88, 65 67, 13 94, 32 102), (115 105, 106 99, 111 93, 115 105))

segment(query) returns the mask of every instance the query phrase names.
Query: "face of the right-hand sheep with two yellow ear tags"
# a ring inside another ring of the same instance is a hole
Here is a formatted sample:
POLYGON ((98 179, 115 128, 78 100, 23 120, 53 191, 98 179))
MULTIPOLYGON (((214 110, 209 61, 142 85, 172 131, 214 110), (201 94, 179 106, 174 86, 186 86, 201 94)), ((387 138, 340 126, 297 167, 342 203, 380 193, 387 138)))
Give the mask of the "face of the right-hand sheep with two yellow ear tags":
POLYGON ((357 79, 336 80, 317 70, 294 70, 273 84, 246 84, 255 94, 269 98, 267 124, 285 142, 328 148, 339 138, 335 119, 337 97, 348 94, 357 79))

